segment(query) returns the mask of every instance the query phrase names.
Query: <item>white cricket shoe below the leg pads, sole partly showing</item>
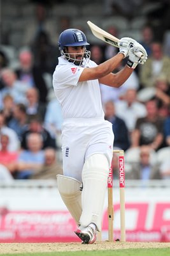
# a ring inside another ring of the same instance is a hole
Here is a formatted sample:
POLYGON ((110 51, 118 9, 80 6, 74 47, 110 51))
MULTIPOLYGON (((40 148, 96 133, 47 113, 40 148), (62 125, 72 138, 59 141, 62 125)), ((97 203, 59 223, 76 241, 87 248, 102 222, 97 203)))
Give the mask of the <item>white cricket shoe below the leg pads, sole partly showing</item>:
POLYGON ((97 239, 97 231, 90 225, 88 227, 79 227, 74 233, 83 241, 82 244, 93 244, 97 239))

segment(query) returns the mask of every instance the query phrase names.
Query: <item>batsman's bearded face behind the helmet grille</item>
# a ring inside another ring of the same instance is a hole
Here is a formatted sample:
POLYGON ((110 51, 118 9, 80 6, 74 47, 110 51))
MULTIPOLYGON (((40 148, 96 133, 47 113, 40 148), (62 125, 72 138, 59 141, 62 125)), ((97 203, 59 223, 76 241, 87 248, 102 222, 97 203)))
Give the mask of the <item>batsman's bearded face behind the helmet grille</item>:
POLYGON ((67 47, 67 54, 71 62, 74 62, 75 65, 80 65, 84 56, 85 56, 85 47, 84 46, 69 46, 67 47))

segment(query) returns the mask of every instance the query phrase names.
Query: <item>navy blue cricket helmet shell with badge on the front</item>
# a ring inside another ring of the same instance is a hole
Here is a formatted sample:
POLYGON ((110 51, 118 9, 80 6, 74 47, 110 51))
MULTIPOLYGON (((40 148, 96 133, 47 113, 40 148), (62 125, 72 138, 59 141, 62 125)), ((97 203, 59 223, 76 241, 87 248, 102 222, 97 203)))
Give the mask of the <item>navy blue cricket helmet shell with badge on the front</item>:
POLYGON ((79 29, 66 29, 59 36, 59 50, 63 51, 65 46, 89 45, 85 34, 79 29))

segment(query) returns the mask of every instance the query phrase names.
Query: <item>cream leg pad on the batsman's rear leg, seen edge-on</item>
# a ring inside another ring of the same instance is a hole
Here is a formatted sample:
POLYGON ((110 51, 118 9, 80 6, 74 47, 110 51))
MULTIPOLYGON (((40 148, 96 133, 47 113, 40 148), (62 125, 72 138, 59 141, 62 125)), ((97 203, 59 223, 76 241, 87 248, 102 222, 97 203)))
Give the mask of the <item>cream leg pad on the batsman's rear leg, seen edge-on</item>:
POLYGON ((60 196, 77 225, 80 225, 82 212, 81 185, 81 182, 76 179, 64 175, 57 175, 57 187, 60 196))

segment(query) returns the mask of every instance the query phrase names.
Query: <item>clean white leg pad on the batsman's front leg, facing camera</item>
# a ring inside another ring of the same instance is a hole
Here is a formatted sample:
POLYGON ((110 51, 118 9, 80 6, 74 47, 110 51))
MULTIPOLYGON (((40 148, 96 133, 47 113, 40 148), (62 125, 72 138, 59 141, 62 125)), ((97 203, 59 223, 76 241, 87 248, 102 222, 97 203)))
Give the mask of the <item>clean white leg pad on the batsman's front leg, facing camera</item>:
POLYGON ((103 154, 94 154, 83 166, 82 214, 80 224, 87 227, 95 223, 101 231, 104 198, 108 185, 109 163, 103 154))

